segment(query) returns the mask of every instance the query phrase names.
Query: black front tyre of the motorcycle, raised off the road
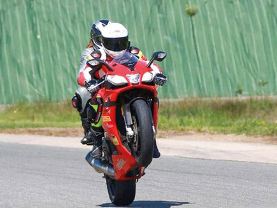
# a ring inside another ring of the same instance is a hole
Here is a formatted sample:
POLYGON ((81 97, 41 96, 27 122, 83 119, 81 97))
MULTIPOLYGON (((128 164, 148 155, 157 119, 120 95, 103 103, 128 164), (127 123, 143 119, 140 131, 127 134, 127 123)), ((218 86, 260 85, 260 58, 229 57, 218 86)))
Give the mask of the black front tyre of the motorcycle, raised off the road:
POLYGON ((150 107, 143 100, 136 100, 132 104, 132 114, 138 125, 139 135, 139 155, 136 157, 136 162, 144 167, 147 167, 153 158, 154 151, 154 134, 152 129, 152 114, 150 107))

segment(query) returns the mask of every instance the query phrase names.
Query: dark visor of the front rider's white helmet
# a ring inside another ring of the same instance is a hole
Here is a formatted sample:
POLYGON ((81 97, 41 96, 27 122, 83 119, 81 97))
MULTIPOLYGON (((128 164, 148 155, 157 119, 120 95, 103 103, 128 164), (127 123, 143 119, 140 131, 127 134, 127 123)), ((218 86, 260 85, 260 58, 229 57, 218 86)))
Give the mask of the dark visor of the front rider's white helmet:
POLYGON ((110 51, 123 51, 128 46, 128 36, 126 37, 102 37, 103 46, 110 51))

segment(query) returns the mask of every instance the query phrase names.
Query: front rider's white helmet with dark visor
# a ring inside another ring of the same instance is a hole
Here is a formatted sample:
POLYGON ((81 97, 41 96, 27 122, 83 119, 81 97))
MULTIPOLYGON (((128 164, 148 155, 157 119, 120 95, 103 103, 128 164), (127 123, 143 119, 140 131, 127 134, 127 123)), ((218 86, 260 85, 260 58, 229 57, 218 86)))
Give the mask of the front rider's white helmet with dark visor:
POLYGON ((102 30, 102 46, 107 55, 120 58, 128 47, 128 31, 122 24, 111 23, 102 30))

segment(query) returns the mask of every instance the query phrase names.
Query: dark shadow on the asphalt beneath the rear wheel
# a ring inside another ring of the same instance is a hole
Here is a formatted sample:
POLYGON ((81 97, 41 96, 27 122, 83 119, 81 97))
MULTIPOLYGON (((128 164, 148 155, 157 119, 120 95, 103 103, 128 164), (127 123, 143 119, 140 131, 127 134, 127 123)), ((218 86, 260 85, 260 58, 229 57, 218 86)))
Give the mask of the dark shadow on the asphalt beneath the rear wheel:
MULTIPOLYGON (((159 208, 170 208, 173 206, 181 206, 181 205, 188 205, 190 202, 170 202, 170 201, 134 201, 131 205, 127 207, 135 207, 135 208, 152 208, 152 207, 159 207, 159 208)), ((98 205, 99 207, 116 207, 111 203, 105 203, 102 205, 98 205)))

